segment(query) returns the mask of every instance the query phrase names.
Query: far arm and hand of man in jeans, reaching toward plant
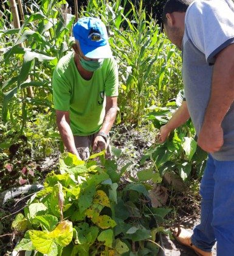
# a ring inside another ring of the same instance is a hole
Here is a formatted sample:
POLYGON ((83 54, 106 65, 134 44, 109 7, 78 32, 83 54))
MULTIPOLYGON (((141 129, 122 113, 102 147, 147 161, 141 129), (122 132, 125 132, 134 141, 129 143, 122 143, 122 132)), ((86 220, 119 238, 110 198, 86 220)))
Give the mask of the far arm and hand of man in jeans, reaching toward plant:
POLYGON ((189 118, 190 114, 188 113, 187 102, 183 101, 168 123, 165 124, 165 126, 160 127, 160 132, 156 136, 156 141, 159 143, 165 142, 170 132, 179 126, 182 126, 182 124, 184 124, 189 118))

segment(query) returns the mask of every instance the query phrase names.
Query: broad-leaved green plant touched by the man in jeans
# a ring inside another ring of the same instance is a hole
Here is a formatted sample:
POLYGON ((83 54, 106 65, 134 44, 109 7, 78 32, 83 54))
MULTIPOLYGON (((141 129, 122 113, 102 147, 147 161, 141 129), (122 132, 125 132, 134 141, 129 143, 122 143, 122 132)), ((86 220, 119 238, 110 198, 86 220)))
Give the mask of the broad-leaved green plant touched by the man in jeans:
MULTIPOLYGON (((176 102, 178 105, 181 104, 182 99, 180 92, 176 101, 170 102, 168 107, 151 107, 154 111, 150 112, 146 118, 153 122, 154 127, 160 129, 160 126, 166 124, 174 113, 171 105, 176 105, 176 102)), ((147 159, 153 160, 160 176, 167 171, 174 171, 182 180, 188 180, 193 170, 197 177, 202 177, 207 153, 197 145, 196 132, 191 120, 188 120, 184 126, 174 130, 165 143, 151 146, 143 156, 142 163, 147 159)))

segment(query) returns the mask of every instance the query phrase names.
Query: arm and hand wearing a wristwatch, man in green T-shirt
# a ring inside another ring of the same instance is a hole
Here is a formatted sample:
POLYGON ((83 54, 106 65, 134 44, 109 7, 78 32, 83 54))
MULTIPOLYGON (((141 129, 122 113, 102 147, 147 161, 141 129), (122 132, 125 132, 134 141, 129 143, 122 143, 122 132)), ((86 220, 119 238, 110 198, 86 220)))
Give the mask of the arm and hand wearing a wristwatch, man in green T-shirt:
MULTIPOLYGON (((106 97, 106 114, 105 114, 105 118, 103 121, 103 125, 102 128, 100 130, 100 132, 103 132, 105 134, 108 134, 109 131, 111 130, 111 127, 114 124, 115 121, 115 117, 117 114, 117 96, 115 97, 106 97)), ((97 151, 97 150, 104 150, 106 149, 106 141, 105 138, 103 138, 101 135, 98 135, 95 140, 94 140, 94 146, 93 146, 93 151, 97 151)))

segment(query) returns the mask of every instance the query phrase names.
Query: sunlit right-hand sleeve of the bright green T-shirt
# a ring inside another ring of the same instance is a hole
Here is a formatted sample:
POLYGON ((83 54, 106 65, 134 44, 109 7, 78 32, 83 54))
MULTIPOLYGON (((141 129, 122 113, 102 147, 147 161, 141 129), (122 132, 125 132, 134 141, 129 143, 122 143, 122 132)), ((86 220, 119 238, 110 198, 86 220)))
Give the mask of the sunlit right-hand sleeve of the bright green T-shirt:
POLYGON ((105 94, 109 97, 119 95, 119 72, 118 65, 114 59, 109 62, 108 73, 105 81, 105 94))

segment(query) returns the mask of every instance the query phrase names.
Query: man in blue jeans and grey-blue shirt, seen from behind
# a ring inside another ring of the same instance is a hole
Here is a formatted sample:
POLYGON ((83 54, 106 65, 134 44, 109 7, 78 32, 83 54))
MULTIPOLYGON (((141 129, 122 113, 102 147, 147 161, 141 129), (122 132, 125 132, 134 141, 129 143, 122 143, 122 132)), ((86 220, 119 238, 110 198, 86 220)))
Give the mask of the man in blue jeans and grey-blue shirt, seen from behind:
POLYGON ((182 49, 188 112, 209 154, 201 181, 201 224, 174 230, 199 255, 234 254, 234 8, 230 0, 168 0, 165 33, 182 49))

